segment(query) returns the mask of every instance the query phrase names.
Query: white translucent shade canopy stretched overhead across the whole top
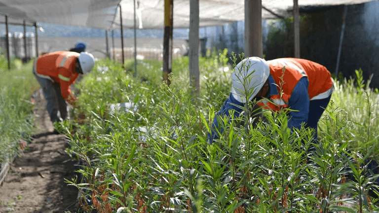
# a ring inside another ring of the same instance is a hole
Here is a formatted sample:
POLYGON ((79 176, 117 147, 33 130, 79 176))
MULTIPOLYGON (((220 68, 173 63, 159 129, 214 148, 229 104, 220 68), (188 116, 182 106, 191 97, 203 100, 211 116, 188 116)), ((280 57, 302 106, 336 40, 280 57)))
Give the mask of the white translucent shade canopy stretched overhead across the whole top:
MULTIPOLYGON (((299 0, 299 7, 358 4, 372 0, 299 0)), ((136 0, 137 28, 163 29, 164 0, 136 0)), ((0 22, 36 22, 118 29, 122 8, 124 28, 134 28, 134 0, 0 0, 0 22)), ((262 0, 262 18, 291 16, 293 0, 262 0), (267 9, 269 11, 267 11, 267 9), (274 14, 272 14, 272 12, 274 14)), ((199 26, 217 26, 244 20, 244 0, 199 0, 199 26)), ((174 28, 189 28, 189 0, 174 0, 174 28)))

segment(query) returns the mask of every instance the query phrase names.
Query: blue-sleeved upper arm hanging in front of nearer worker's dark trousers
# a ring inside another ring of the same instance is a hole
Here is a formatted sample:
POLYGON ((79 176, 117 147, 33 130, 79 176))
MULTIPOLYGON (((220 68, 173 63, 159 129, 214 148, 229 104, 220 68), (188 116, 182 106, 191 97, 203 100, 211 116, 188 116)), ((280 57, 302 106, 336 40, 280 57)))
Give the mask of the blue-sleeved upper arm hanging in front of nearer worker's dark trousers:
POLYGON ((300 129, 302 123, 308 121, 309 113, 309 96, 308 96, 308 79, 303 77, 296 84, 294 90, 292 91, 291 98, 289 99, 290 109, 296 111, 290 111, 288 127, 293 130, 293 128, 300 129))

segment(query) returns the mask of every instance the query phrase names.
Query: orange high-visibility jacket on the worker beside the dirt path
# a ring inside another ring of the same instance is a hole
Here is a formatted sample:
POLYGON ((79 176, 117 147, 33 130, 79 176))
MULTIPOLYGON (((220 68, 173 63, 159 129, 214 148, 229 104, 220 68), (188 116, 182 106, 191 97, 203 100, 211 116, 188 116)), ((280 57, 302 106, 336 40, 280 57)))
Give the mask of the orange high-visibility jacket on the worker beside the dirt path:
POLYGON ((39 77, 51 79, 61 86, 62 97, 69 103, 76 99, 70 90, 79 73, 76 72, 76 58, 79 53, 58 51, 38 57, 36 72, 39 77))

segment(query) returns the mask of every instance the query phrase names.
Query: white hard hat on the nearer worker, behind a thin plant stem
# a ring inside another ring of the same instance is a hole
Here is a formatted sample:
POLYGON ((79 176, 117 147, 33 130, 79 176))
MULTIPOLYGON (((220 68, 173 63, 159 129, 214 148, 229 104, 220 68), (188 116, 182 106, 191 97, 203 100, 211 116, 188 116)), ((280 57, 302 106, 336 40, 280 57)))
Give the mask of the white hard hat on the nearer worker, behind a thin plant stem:
POLYGON ((231 74, 231 94, 240 103, 251 101, 265 84, 270 68, 265 59, 250 57, 238 63, 231 74))

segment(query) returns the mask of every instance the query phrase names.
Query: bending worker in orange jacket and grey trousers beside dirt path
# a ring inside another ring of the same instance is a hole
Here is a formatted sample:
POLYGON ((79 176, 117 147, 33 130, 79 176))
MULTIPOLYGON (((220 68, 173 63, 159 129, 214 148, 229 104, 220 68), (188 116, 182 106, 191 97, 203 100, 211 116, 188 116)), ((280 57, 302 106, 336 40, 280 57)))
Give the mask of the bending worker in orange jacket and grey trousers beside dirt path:
POLYGON ((94 65, 94 57, 88 52, 57 51, 36 58, 33 73, 42 88, 52 122, 67 118, 66 101, 72 106, 76 101, 70 86, 79 74, 90 72, 94 65))

